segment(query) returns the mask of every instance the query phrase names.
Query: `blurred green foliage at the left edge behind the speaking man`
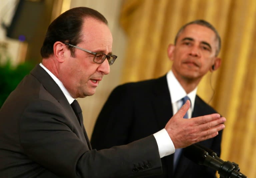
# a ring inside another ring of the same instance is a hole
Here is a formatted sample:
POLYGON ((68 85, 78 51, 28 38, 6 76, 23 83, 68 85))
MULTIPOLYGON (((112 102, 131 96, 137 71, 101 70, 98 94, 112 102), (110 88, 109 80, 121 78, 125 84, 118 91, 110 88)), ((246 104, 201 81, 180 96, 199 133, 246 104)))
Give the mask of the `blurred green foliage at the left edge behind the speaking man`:
POLYGON ((17 87, 20 81, 32 70, 34 65, 29 62, 21 63, 16 67, 10 60, 0 65, 0 108, 8 95, 17 87))

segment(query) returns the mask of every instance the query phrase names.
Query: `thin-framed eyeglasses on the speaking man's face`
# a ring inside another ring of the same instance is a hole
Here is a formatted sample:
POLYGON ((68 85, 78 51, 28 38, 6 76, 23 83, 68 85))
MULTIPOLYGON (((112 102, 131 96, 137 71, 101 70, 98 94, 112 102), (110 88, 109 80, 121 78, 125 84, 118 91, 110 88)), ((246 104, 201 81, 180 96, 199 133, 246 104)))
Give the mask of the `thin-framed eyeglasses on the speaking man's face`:
MULTIPOLYGON (((64 42, 64 43, 65 43, 65 42, 64 42)), ((107 58, 108 64, 109 64, 109 65, 112 65, 112 64, 115 62, 116 58, 117 58, 116 55, 106 55, 106 54, 104 54, 104 53, 95 53, 95 52, 92 52, 92 51, 89 51, 89 50, 80 48, 80 47, 78 47, 78 46, 71 45, 71 44, 69 44, 69 43, 65 43, 65 44, 66 44, 66 45, 69 45, 69 46, 72 46, 72 47, 74 47, 74 48, 77 48, 77 49, 79 49, 79 50, 85 51, 85 52, 87 52, 87 53, 93 54, 93 55, 94 55, 93 62, 95 62, 95 63, 97 63, 97 64, 103 63, 104 60, 107 58)))

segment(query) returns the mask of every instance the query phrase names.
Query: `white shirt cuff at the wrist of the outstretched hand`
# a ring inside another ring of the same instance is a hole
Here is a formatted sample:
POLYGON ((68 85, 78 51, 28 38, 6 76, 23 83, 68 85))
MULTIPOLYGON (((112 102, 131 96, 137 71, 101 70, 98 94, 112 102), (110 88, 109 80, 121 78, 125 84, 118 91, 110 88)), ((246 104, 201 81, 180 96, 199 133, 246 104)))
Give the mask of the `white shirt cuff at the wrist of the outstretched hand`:
POLYGON ((160 158, 168 156, 175 152, 175 147, 173 145, 172 139, 170 138, 165 128, 154 133, 153 135, 157 142, 160 158))

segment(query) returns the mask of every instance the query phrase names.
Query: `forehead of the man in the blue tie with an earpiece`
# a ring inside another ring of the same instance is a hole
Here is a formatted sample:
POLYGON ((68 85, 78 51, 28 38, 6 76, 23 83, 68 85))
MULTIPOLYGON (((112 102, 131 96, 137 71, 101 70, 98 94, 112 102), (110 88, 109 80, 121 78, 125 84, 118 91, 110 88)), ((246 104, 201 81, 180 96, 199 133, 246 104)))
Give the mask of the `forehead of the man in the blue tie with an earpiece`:
POLYGON ((184 38, 192 38, 194 41, 198 42, 207 42, 212 46, 217 45, 217 38, 214 31, 208 27, 198 24, 190 24, 186 26, 186 28, 179 34, 177 42, 184 38))

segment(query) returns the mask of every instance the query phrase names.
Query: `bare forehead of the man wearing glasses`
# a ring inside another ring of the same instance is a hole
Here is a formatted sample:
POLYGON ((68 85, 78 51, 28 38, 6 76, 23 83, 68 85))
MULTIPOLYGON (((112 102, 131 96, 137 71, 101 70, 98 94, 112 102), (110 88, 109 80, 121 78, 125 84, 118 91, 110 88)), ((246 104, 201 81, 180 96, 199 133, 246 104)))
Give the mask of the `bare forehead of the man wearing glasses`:
POLYGON ((104 22, 91 17, 85 18, 81 38, 84 47, 94 50, 104 48, 111 51, 113 38, 109 27, 104 22))

